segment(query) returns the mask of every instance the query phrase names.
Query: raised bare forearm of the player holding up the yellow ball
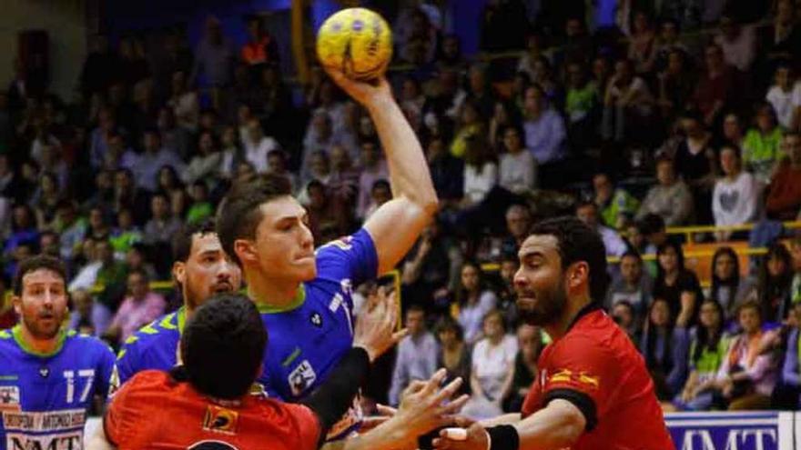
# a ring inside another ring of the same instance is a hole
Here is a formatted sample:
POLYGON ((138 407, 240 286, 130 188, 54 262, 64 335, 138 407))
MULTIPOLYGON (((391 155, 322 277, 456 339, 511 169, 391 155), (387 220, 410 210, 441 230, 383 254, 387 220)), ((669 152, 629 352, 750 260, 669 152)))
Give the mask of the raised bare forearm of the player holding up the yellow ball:
POLYGON ((367 107, 387 157, 392 195, 405 197, 433 215, 437 193, 420 141, 406 116, 391 97, 377 99, 367 107))

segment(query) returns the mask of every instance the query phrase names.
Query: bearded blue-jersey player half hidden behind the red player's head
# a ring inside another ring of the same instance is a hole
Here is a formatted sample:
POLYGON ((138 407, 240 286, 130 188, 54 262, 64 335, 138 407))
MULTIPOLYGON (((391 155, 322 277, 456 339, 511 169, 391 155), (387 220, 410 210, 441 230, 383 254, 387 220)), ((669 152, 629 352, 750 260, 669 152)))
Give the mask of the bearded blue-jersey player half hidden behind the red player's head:
POLYGON ((189 315, 214 294, 238 291, 242 273, 223 252, 212 222, 188 226, 173 238, 173 277, 184 305, 157 318, 127 338, 117 355, 125 383, 147 369, 168 370, 177 364, 181 331, 189 315))

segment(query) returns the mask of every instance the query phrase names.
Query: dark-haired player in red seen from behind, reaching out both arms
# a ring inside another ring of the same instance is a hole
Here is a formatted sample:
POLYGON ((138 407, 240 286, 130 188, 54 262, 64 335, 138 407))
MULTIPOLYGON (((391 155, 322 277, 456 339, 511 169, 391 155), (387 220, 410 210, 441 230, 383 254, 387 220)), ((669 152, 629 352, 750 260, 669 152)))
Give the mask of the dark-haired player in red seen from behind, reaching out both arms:
MULTIPOLYGON (((403 333, 393 333, 397 305, 379 296, 360 316, 354 347, 319 389, 300 405, 250 393, 261 370, 267 332, 248 297, 221 294, 198 308, 181 336, 184 365, 131 378, 106 410, 89 450, 312 450, 352 404, 374 360, 403 333)), ((406 391, 396 415, 370 436, 340 448, 411 448, 418 435, 449 423, 466 397, 442 405, 461 385, 441 390, 444 370, 406 391), (369 441, 369 442, 366 442, 369 441)))

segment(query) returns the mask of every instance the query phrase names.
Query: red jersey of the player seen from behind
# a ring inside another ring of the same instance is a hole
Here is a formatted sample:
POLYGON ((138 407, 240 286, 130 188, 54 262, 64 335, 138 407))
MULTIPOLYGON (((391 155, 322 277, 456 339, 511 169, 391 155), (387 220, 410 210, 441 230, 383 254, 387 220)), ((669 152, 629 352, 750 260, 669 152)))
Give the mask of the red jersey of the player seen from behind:
POLYGON ((166 372, 131 378, 108 405, 106 438, 120 450, 313 450, 319 423, 308 407, 263 395, 215 402, 166 372))

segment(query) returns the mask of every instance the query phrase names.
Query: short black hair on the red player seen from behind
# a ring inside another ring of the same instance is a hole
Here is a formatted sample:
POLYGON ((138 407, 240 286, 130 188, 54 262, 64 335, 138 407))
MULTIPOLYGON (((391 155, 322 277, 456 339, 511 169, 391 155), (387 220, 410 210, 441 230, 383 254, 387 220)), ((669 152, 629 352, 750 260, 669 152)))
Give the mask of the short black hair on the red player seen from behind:
POLYGON ((181 336, 188 381, 198 392, 232 400, 256 380, 267 330, 256 305, 241 294, 218 294, 201 305, 181 336))

